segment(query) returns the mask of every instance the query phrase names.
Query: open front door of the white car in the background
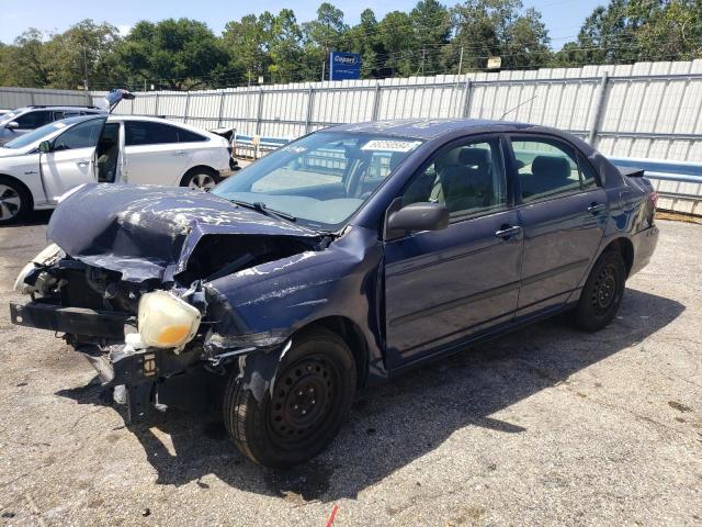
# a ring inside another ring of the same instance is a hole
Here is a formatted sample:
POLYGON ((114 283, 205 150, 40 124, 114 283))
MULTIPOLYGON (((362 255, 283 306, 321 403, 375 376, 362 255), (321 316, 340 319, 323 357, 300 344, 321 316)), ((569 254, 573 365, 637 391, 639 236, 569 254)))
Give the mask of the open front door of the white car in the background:
POLYGON ((42 155, 42 176, 49 202, 66 191, 95 181, 94 152, 104 119, 78 123, 53 141, 52 152, 42 155))

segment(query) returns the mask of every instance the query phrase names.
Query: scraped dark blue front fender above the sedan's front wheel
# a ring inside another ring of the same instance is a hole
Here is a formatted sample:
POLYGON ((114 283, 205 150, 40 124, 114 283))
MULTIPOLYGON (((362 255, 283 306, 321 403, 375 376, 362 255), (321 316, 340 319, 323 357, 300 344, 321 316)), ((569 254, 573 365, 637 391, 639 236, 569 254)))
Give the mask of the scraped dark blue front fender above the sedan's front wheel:
POLYGON ((321 321, 344 318, 363 332, 371 368, 383 372, 377 336, 378 267, 375 233, 351 229, 327 250, 306 250, 203 284, 211 328, 204 348, 213 362, 237 362, 257 401, 275 388, 295 335, 321 321))

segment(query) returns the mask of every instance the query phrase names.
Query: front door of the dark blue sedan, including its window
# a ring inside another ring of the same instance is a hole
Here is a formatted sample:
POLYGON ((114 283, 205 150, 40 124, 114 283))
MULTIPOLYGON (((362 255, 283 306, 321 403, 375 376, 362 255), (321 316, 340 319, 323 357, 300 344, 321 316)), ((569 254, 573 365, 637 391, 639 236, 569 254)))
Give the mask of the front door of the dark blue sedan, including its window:
POLYGON ((403 205, 444 203, 451 222, 385 242, 389 368, 513 318, 522 235, 503 150, 499 136, 454 142, 405 189, 403 205))

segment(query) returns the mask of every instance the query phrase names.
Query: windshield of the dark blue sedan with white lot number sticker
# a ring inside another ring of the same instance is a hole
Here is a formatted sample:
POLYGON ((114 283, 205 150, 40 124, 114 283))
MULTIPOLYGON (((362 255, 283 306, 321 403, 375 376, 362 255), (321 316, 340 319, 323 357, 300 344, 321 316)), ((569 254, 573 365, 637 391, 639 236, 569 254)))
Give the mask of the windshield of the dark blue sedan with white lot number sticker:
POLYGON ((318 132, 269 154, 217 186, 223 198, 260 203, 314 228, 336 229, 422 142, 318 132))

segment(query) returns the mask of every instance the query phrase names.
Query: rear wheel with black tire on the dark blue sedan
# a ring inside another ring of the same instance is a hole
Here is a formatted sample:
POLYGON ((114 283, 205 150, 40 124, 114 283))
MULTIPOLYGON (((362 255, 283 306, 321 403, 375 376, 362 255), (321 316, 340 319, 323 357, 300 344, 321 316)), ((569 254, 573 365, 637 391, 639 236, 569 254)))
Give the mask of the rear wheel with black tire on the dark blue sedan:
POLYGON ((624 295, 626 266, 618 250, 607 250, 592 267, 580 300, 573 313, 575 325, 586 332, 598 332, 612 319, 624 295))

